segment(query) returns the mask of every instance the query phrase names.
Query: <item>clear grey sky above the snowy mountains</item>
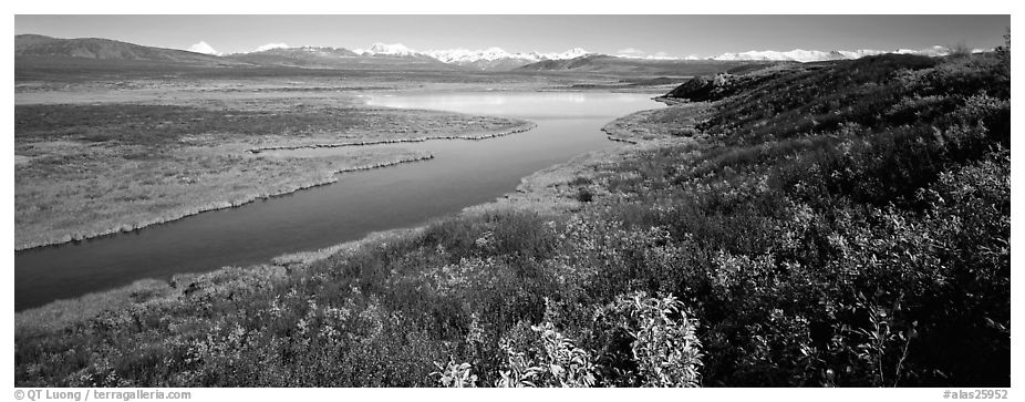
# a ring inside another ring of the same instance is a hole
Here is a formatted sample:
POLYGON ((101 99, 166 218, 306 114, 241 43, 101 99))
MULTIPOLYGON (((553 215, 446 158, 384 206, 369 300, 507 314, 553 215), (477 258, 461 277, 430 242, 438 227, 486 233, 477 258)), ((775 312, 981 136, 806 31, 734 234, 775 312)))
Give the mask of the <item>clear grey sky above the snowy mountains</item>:
POLYGON ((748 50, 895 50, 1003 43, 1010 16, 15 16, 14 33, 225 53, 268 43, 711 56, 748 50))

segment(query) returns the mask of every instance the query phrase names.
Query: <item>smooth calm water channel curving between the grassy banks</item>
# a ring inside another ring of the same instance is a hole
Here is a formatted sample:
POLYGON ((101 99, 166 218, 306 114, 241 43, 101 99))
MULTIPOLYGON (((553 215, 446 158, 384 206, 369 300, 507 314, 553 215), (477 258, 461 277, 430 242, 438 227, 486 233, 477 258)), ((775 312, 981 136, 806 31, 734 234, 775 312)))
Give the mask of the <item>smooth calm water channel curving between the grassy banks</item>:
MULTIPOLYGON (((662 105, 625 93, 433 93, 371 95, 371 105, 529 120, 537 127, 484 141, 404 144, 434 159, 345 173, 338 183, 203 213, 136 233, 14 255, 14 310, 144 278, 247 266, 272 257, 411 227, 487 203, 520 178, 576 155, 620 146, 600 128, 662 105)), ((394 145, 392 145, 394 146, 394 145)), ((306 152, 306 151, 303 151, 306 152)), ((327 152, 330 152, 328 150, 327 152)))

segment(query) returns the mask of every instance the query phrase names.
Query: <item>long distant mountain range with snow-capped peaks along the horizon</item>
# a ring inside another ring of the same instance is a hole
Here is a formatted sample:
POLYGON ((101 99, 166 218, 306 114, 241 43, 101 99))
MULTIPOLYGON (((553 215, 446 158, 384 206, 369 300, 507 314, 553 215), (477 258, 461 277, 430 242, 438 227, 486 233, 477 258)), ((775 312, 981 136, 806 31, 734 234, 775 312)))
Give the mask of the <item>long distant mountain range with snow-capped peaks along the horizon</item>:
MULTIPOLYGON (((173 62, 193 65, 250 65, 289 66, 307 69, 363 69, 363 70, 478 70, 478 71, 577 71, 593 73, 651 73, 674 75, 681 72, 718 71, 723 64, 710 62, 816 62, 852 60, 883 53, 946 55, 951 50, 933 47, 922 50, 834 50, 817 51, 747 51, 723 53, 698 59, 659 56, 609 55, 572 48, 565 52, 511 53, 501 48, 483 50, 448 49, 417 51, 401 43, 374 43, 367 49, 349 50, 333 47, 292 48, 284 43, 268 43, 256 51, 222 54, 206 42, 189 50, 163 49, 108 39, 59 39, 38 34, 14 37, 15 61, 19 59, 56 60, 81 59, 173 62), (698 68, 700 66, 700 68, 698 68)), ((660 53, 661 54, 661 53, 660 53)), ((734 64, 736 65, 736 64, 734 64)))

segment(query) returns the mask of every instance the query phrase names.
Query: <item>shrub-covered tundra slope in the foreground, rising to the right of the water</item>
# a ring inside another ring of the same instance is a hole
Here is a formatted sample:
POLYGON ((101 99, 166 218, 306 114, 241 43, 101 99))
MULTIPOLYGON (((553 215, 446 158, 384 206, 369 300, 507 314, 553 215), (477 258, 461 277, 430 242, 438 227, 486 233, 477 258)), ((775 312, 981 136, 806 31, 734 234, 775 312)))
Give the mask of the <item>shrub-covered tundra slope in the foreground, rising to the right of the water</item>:
POLYGON ((1010 89, 1001 52, 703 79, 569 207, 27 311, 14 382, 1010 386, 1010 89))

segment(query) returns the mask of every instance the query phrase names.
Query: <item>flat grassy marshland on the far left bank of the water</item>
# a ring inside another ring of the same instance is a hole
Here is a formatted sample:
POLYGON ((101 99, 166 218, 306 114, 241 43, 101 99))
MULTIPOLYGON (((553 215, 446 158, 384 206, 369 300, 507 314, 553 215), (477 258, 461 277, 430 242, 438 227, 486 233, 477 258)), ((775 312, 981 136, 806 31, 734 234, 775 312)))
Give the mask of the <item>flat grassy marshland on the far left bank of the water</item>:
POLYGON ((89 103, 89 91, 61 93, 82 101, 66 104, 45 102, 50 94, 19 94, 15 249, 134 230, 333 183, 339 172, 432 157, 400 145, 317 158, 252 150, 487 137, 532 127, 499 117, 369 107, 339 92, 271 85, 239 95, 214 87, 144 87, 101 93, 101 101, 89 103))

